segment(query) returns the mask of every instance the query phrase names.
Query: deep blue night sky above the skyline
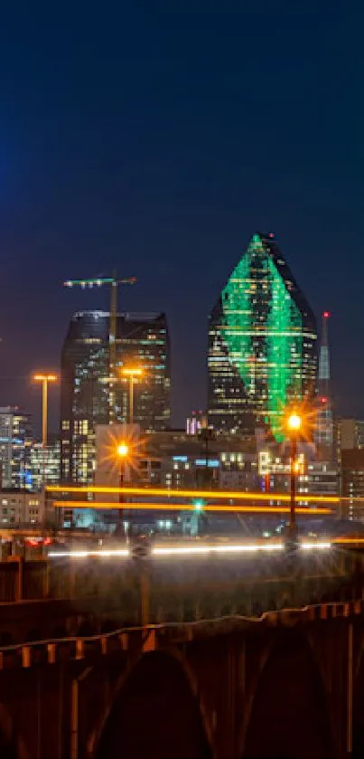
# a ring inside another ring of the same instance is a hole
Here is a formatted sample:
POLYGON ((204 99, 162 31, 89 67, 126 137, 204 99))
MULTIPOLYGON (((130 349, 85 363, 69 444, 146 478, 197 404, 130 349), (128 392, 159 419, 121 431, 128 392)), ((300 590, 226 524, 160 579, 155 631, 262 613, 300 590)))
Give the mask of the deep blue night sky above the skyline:
POLYGON ((59 367, 74 310, 108 307, 61 281, 117 267, 138 279, 121 308, 167 312, 182 425, 206 403, 210 308, 274 231, 331 310, 338 409, 364 416, 359 1, 4 5, 0 403, 39 424, 30 373, 59 367))

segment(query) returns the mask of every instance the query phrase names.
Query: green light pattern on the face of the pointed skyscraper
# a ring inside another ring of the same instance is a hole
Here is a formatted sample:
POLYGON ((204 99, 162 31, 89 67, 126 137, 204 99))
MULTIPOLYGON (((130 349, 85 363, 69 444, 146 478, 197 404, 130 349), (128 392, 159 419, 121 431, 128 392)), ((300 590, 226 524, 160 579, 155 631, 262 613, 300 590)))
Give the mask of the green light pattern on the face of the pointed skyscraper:
POLYGON ((282 441, 285 406, 303 394, 303 337, 316 335, 303 328, 301 312, 259 235, 249 242, 221 299, 220 335, 229 363, 238 370, 252 410, 266 399, 262 415, 282 441))

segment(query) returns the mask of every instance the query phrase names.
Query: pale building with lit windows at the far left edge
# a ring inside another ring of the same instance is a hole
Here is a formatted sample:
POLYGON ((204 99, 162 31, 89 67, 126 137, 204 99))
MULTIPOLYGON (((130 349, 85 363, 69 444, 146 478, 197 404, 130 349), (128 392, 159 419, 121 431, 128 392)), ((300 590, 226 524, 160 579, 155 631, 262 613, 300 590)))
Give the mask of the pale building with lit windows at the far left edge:
POLYGON ((29 414, 0 407, 0 487, 29 489, 32 430, 29 414))

